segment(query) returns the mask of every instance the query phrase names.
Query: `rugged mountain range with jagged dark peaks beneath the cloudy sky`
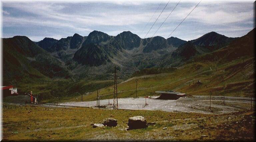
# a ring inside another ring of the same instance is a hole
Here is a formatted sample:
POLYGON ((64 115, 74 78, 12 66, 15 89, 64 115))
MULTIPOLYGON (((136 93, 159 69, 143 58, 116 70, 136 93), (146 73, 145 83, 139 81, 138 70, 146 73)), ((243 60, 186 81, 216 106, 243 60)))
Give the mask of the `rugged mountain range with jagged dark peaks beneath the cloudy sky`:
POLYGON ((130 31, 117 36, 93 31, 88 36, 74 34, 39 42, 14 36, 3 39, 4 84, 24 77, 107 80, 112 78, 114 66, 118 67, 119 78, 124 79, 144 68, 182 65, 194 57, 227 48, 241 38, 210 32, 191 41, 160 36, 142 39, 130 31))

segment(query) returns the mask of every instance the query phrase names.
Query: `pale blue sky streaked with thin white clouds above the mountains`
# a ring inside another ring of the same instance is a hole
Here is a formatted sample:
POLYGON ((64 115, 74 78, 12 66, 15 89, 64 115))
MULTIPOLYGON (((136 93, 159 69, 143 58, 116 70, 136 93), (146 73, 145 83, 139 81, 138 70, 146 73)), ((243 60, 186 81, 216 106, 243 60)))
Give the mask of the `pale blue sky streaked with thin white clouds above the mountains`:
POLYGON ((254 28, 254 1, 203 0, 171 34, 199 1, 181 0, 170 14, 179 2, 170 0, 149 31, 168 0, 2 0, 2 37, 22 35, 32 41, 40 41, 45 37, 66 38, 75 33, 88 36, 90 32, 97 30, 112 36, 131 31, 141 38, 149 31, 147 38, 153 36, 169 14, 154 36, 173 36, 188 41, 215 31, 228 37, 241 37, 254 28))

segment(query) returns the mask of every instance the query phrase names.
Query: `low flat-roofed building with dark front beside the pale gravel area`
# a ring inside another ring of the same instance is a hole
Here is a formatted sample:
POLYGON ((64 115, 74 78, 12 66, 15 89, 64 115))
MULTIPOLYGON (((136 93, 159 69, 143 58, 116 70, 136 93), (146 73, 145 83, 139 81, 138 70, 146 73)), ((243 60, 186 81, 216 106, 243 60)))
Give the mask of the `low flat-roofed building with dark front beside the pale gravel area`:
POLYGON ((185 93, 175 92, 175 91, 156 91, 156 93, 160 93, 160 97, 156 99, 163 99, 163 100, 177 100, 180 97, 185 97, 185 93))

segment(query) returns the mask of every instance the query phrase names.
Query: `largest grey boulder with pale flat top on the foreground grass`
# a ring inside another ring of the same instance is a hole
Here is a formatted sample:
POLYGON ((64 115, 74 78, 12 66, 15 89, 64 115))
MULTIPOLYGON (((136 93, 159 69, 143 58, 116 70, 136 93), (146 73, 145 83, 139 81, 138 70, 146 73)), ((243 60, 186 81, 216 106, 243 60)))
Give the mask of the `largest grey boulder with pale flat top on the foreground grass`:
POLYGON ((141 129, 148 127, 147 120, 143 116, 134 116, 128 119, 129 129, 141 129))

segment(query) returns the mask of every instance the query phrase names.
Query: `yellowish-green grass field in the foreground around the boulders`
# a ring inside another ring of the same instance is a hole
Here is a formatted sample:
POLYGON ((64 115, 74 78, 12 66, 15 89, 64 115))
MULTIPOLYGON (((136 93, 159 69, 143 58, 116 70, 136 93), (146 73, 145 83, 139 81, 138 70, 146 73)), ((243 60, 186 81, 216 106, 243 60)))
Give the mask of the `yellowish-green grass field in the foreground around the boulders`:
POLYGON ((197 113, 56 108, 3 104, 3 140, 253 140, 255 112, 223 115, 197 113), (156 122, 148 128, 126 130, 129 117, 144 116, 156 122), (92 128, 104 118, 118 120, 116 127, 92 128), (166 130, 163 128, 167 127, 166 130))

